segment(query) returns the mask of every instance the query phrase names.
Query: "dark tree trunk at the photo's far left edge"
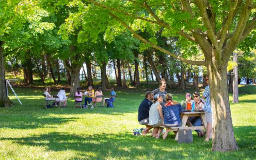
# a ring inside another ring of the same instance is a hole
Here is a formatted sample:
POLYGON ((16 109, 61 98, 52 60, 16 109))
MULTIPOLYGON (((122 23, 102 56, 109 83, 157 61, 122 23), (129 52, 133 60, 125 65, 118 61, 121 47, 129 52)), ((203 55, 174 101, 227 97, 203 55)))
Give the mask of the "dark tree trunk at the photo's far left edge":
POLYGON ((4 71, 4 53, 2 45, 4 42, 0 41, 0 107, 11 106, 11 101, 7 96, 5 71, 4 71))

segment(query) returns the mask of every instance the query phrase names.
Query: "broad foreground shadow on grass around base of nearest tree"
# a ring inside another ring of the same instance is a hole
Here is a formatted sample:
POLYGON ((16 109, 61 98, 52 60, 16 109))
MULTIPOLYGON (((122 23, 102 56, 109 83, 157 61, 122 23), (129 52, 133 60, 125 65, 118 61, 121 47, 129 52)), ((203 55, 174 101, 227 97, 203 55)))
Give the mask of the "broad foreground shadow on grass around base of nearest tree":
POLYGON ((177 144, 174 134, 163 141, 150 136, 132 136, 125 132, 120 134, 71 135, 68 133, 51 132, 25 138, 0 138, 16 144, 44 146, 49 151, 76 151, 74 159, 251 159, 255 155, 256 127, 236 127, 235 131, 243 130, 246 135, 239 134, 237 152, 211 152, 211 142, 194 136, 192 144, 177 144), (254 138, 252 140, 252 137, 254 138))

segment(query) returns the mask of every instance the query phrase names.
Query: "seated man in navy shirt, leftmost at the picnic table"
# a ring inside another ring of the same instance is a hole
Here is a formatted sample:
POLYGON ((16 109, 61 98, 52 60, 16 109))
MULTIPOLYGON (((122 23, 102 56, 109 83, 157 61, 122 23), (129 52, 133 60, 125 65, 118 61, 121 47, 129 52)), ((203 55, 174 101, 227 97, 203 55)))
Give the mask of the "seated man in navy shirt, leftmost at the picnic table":
POLYGON ((144 100, 140 103, 139 109, 138 109, 138 121, 142 125, 146 125, 146 129, 142 130, 142 135, 146 135, 148 131, 153 128, 151 126, 148 126, 148 114, 150 106, 153 104, 152 100, 154 99, 154 94, 152 91, 147 91, 145 94, 144 100))

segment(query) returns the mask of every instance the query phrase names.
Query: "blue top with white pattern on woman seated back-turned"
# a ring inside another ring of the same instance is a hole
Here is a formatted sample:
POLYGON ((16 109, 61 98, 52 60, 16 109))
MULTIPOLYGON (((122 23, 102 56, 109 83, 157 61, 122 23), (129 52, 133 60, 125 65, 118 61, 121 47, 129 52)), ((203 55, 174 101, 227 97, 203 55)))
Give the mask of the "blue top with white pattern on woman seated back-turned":
POLYGON ((183 108, 180 104, 163 107, 164 124, 180 123, 180 113, 182 112, 182 109, 183 108))

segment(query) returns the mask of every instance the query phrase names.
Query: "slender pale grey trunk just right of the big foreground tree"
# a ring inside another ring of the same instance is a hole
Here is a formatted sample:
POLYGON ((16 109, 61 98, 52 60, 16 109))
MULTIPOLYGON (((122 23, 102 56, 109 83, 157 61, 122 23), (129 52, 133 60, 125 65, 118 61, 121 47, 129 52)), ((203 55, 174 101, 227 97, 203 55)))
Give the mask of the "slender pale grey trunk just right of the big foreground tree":
MULTIPOLYGON (((233 62, 237 63, 236 52, 233 52, 233 62)), ((238 65, 235 65, 233 70, 233 103, 238 103, 238 65)))

